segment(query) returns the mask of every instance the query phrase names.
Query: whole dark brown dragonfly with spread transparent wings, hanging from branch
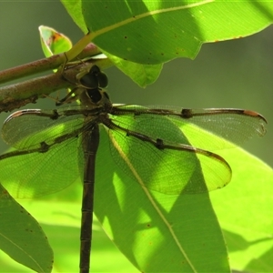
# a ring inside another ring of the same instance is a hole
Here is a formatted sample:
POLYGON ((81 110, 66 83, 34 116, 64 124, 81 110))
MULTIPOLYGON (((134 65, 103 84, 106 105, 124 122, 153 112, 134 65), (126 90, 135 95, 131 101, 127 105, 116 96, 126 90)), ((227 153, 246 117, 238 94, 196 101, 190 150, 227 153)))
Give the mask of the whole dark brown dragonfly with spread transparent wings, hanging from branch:
POLYGON ((254 111, 116 105, 106 85, 106 75, 92 66, 57 103, 60 107, 17 111, 2 128, 3 139, 15 151, 0 156, 0 179, 13 196, 54 193, 84 174, 80 272, 90 266, 100 130, 106 129, 116 167, 140 187, 166 195, 202 194, 227 186, 231 167, 213 151, 266 133, 267 120, 254 111), (67 106, 76 99, 79 105, 67 106))

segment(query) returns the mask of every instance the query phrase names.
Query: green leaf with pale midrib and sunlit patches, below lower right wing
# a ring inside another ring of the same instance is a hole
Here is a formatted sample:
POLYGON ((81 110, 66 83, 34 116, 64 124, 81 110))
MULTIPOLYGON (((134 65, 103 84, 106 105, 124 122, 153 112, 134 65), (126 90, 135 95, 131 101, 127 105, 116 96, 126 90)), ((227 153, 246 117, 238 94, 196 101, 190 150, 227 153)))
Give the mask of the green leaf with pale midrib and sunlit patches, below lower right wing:
POLYGON ((141 187, 116 169, 107 137, 101 130, 95 213, 117 248, 145 272, 229 272, 208 195, 169 196, 141 187))

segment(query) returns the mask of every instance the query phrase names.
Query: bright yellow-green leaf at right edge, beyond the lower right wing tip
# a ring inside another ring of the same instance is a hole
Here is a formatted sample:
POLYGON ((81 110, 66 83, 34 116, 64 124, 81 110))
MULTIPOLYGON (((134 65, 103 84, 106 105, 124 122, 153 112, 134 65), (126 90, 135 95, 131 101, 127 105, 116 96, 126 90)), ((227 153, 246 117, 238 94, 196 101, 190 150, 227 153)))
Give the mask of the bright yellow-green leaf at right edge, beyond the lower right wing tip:
POLYGON ((232 167, 233 178, 228 187, 210 197, 227 241, 231 267, 272 272, 273 170, 240 148, 219 154, 232 167))

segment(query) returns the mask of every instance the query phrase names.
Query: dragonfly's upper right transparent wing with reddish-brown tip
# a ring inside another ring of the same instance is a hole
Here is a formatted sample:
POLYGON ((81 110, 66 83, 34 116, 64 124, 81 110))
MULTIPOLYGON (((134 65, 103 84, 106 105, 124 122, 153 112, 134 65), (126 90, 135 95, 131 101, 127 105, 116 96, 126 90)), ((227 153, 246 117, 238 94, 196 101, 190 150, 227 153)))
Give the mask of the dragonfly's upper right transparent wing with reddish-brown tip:
MULTIPOLYGON (((135 116, 139 119, 150 119, 166 116, 178 126, 194 147, 217 150, 234 147, 253 136, 264 136, 267 121, 256 112, 242 109, 185 109, 165 106, 115 106, 117 115, 135 116), (220 136, 211 141, 212 136, 220 136)), ((166 129, 166 128, 163 128, 166 129)))

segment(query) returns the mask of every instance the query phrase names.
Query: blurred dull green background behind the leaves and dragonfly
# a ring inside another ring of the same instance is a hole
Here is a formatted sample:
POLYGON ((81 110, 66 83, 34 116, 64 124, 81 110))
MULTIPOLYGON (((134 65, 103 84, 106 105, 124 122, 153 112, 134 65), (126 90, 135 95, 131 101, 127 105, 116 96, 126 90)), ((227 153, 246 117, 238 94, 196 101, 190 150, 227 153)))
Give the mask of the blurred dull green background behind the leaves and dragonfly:
MULTIPOLYGON (((58 1, 0 1, 1 70, 44 57, 39 25, 54 27, 73 43, 83 35, 58 1)), ((203 45, 194 61, 177 59, 167 63, 157 82, 145 89, 112 67, 106 70, 107 90, 114 103, 238 107, 258 111, 268 119, 268 134, 249 141, 244 147, 273 167, 272 49, 273 26, 270 26, 257 35, 203 45)), ((27 107, 52 108, 55 104, 40 99, 27 107)), ((1 113, 0 124, 8 115, 1 113)), ((0 139, 0 152, 5 148, 0 139)))

